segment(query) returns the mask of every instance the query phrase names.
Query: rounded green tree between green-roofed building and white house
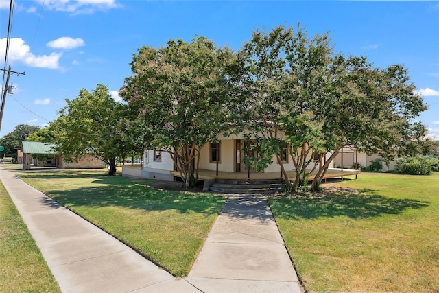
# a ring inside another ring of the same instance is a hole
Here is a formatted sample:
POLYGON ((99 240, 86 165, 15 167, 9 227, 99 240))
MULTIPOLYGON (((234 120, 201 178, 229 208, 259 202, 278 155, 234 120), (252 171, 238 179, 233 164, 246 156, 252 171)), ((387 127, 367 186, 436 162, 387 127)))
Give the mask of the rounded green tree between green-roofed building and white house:
POLYGON ((92 154, 108 164, 109 175, 116 175, 115 158, 126 147, 121 139, 121 105, 102 84, 91 92, 81 89, 78 97, 66 99, 66 103, 58 119, 50 124, 57 151, 67 161, 92 154))

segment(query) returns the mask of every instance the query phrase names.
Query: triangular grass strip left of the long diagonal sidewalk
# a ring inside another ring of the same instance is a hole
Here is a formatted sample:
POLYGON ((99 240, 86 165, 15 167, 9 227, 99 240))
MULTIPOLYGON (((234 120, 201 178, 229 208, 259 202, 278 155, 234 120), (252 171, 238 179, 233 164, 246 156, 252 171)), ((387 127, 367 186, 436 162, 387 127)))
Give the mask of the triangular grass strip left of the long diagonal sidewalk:
POLYGON ((60 292, 1 181, 0 292, 60 292))

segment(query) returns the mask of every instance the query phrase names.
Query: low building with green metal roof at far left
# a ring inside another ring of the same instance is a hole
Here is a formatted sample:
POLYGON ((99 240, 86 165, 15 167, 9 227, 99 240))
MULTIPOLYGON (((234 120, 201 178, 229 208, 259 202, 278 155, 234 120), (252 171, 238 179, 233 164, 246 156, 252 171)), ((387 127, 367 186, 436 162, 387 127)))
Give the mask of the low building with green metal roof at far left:
POLYGON ((17 151, 19 162, 23 170, 34 167, 56 167, 57 169, 95 169, 104 168, 105 164, 91 154, 84 154, 77 161, 67 163, 64 155, 54 151, 53 143, 41 143, 37 141, 23 141, 20 150, 17 151))

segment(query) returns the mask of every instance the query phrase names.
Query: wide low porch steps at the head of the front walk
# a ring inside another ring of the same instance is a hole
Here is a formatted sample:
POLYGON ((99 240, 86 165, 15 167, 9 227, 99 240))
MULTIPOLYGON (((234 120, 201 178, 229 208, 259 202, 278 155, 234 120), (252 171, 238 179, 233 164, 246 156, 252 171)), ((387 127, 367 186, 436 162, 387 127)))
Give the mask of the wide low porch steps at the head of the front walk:
POLYGON ((209 189, 222 194, 275 194, 283 189, 283 180, 216 180, 209 189))

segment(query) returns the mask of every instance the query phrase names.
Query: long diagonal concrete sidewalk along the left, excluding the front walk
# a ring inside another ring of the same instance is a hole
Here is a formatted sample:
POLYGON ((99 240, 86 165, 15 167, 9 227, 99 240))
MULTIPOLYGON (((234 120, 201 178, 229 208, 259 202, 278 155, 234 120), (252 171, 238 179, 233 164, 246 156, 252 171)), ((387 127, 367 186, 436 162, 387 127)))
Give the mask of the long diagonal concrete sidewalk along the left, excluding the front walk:
POLYGON ((10 172, 0 178, 62 292, 200 292, 10 172))

